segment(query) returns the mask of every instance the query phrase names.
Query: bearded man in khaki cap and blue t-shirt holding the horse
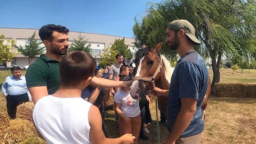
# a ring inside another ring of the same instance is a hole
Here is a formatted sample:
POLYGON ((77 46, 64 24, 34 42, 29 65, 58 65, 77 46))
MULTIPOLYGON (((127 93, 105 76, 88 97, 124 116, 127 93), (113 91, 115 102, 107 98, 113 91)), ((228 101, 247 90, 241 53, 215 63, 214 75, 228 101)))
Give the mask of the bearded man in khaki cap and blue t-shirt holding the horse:
POLYGON ((160 96, 168 96, 167 127, 170 134, 166 144, 200 144, 203 137, 201 106, 208 85, 208 69, 193 45, 201 44, 195 28, 187 20, 167 24, 166 39, 180 59, 172 74, 170 90, 156 87, 160 96))

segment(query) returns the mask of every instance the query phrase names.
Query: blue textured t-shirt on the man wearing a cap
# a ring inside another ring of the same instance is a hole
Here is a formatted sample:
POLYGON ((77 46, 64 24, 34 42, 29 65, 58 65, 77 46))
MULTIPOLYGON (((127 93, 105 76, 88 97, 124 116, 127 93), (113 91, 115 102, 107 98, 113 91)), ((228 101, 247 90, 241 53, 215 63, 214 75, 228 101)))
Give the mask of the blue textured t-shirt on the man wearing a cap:
POLYGON ((197 110, 189 127, 181 137, 197 135, 203 131, 201 106, 209 81, 204 59, 195 51, 187 52, 179 61, 171 77, 167 102, 167 127, 172 130, 181 110, 181 98, 197 99, 197 110))

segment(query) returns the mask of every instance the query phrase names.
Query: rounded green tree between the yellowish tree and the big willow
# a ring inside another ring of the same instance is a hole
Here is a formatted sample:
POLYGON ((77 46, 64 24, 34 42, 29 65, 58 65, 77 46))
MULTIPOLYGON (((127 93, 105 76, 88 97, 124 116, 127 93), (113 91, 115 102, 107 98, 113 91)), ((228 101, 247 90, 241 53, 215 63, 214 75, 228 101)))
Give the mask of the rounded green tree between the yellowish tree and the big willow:
POLYGON ((115 42, 111 46, 113 50, 115 50, 118 54, 123 54, 124 59, 130 60, 132 59, 132 52, 128 48, 129 45, 126 45, 124 43, 124 38, 123 39, 115 39, 115 42))

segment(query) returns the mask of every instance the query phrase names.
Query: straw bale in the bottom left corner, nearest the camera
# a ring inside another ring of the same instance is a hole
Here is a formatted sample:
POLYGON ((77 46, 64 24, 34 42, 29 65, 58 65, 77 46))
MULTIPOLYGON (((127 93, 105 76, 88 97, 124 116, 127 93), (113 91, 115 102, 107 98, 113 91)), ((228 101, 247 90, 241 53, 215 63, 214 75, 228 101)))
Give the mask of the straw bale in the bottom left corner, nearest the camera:
POLYGON ((0 143, 16 143, 24 141, 36 133, 34 125, 29 120, 16 118, 11 120, 8 118, 7 113, 1 112, 0 116, 0 143), (4 126, 5 125, 5 126, 4 126))

